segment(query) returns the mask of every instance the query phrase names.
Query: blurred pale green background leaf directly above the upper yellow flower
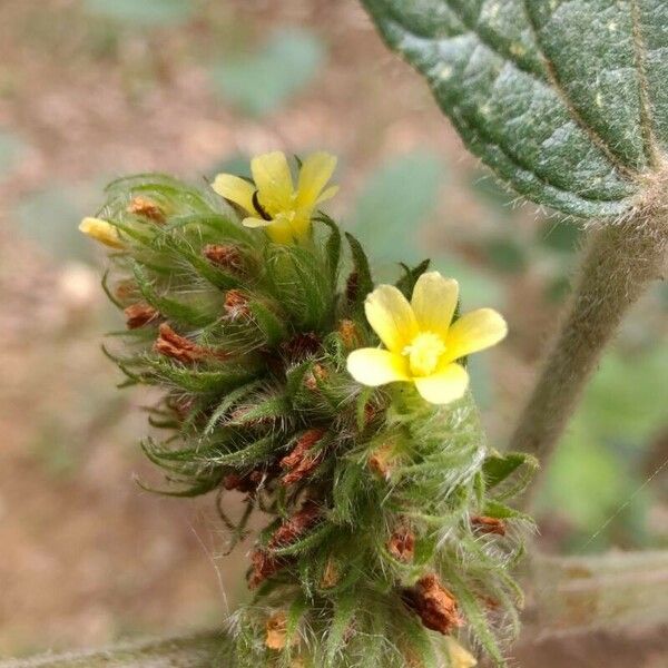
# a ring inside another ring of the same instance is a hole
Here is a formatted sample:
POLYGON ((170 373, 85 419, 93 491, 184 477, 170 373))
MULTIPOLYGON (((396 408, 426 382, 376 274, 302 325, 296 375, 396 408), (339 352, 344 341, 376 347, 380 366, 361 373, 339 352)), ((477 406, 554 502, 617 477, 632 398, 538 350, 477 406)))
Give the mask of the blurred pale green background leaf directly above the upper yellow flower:
POLYGON ((264 48, 245 58, 227 58, 214 66, 212 78, 224 100, 264 116, 306 88, 325 60, 325 48, 312 32, 276 31, 264 48))

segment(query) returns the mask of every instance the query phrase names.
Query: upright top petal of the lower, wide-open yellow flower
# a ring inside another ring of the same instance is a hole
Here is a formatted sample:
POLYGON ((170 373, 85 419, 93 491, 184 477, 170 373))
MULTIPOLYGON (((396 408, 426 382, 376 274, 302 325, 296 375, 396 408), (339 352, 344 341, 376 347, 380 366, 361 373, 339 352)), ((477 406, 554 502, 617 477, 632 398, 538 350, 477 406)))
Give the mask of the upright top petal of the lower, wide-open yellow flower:
POLYGON ((459 284, 439 272, 422 274, 415 283, 411 305, 422 332, 445 336, 456 308, 459 284))

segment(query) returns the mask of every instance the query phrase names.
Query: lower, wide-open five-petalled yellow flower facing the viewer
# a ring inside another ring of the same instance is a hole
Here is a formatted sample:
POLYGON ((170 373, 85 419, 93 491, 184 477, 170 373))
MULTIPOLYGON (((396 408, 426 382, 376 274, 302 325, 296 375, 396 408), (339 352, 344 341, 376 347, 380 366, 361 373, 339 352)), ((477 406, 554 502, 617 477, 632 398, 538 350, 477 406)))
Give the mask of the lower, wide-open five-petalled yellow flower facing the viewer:
POLYGON ((508 327, 492 308, 466 313, 454 323, 459 285, 439 272, 423 274, 411 303, 392 285, 381 285, 364 305, 366 320, 386 350, 361 348, 350 354, 347 369, 364 385, 395 381, 415 383, 428 402, 460 399, 469 374, 456 361, 499 343, 508 327))

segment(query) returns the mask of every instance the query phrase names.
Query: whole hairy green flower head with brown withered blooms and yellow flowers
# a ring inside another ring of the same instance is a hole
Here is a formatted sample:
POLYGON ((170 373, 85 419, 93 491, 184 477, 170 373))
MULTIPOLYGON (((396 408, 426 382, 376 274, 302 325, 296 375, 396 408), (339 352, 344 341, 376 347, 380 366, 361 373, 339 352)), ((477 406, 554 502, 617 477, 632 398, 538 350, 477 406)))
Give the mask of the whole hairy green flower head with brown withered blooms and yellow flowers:
POLYGON ((374 285, 367 257, 317 210, 335 159, 256 157, 213 188, 140 175, 81 229, 127 331, 107 351, 156 385, 143 442, 177 497, 214 492, 229 549, 253 511, 252 601, 224 665, 503 665, 531 520, 509 501, 534 462, 485 442, 466 356, 505 335, 429 262, 374 285), (122 341, 122 344, 120 344, 122 341), (242 494, 240 519, 226 494, 242 494))

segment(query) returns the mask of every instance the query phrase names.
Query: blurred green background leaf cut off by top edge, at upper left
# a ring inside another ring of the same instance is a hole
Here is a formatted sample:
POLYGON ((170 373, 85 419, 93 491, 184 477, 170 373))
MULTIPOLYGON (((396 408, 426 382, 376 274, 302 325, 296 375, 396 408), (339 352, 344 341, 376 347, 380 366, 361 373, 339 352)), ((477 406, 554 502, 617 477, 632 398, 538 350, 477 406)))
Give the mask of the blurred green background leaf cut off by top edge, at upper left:
POLYGON ((174 26, 193 18, 193 0, 85 0, 92 14, 132 26, 174 26))

